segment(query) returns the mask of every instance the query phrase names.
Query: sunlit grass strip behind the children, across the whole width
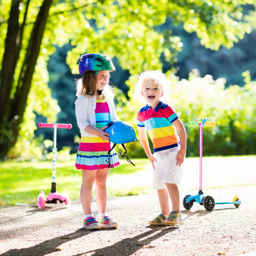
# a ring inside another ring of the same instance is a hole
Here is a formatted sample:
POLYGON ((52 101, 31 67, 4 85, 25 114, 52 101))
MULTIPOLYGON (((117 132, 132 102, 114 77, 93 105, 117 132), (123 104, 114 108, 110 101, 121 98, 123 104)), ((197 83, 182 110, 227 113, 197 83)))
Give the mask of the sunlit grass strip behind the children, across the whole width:
MULTIPOLYGON (((204 187, 255 185, 256 156, 211 156, 203 159, 204 187)), ((120 186, 117 187, 117 183, 108 185, 109 197, 147 193, 149 188, 144 187, 145 183, 142 182, 141 186, 132 184, 133 178, 136 178, 136 175, 132 174, 144 170, 147 165, 150 166, 149 160, 133 159, 136 166, 132 166, 125 159, 120 161, 120 166, 110 170, 110 179, 113 178, 120 186), (128 186, 122 186, 122 182, 128 186)), ((194 191, 198 186, 198 157, 187 158, 185 167, 187 169, 184 171, 182 184, 184 186, 187 183, 186 190, 193 188, 194 191)), ((16 203, 36 204, 40 191, 44 191, 48 196, 51 186, 51 169, 51 161, 1 163, 0 207, 16 206, 16 203)), ((149 176, 151 176, 150 171, 149 176)), ((57 191, 66 192, 71 200, 76 200, 80 198, 80 185, 81 171, 75 169, 75 160, 58 161, 57 191)), ((94 194, 93 197, 95 197, 94 194)))

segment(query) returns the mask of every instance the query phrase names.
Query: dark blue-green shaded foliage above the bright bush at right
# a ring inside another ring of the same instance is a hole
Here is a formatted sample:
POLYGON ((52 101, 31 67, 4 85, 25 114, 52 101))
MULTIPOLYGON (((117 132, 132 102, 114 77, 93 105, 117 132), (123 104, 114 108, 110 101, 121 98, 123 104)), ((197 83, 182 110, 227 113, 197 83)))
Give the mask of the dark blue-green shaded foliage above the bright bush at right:
MULTIPOLYGON (((173 26, 174 27, 174 26, 173 26)), ((255 43, 256 30, 252 30, 230 49, 221 46, 218 51, 201 46, 195 33, 187 33, 182 26, 173 28, 174 34, 181 38, 182 52, 178 53, 177 61, 172 65, 176 68, 179 78, 188 78, 193 69, 200 70, 202 76, 213 75, 216 80, 225 78, 226 86, 245 84, 242 73, 250 70, 252 80, 256 80, 255 43)), ((171 65, 164 63, 163 70, 171 65)))

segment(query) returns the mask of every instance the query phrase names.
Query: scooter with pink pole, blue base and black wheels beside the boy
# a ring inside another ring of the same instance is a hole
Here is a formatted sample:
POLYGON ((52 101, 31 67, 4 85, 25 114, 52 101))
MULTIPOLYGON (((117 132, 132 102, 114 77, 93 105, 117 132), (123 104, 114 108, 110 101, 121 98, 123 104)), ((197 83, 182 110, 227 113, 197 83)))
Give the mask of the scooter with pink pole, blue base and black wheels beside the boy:
POLYGON ((198 127, 199 125, 199 191, 196 196, 186 195, 183 198, 183 206, 186 210, 190 210, 193 206, 193 203, 199 203, 201 206, 204 206, 206 210, 213 210, 215 205, 218 204, 233 204, 235 207, 239 207, 241 204, 238 196, 233 198, 232 202, 220 202, 215 203, 212 196, 203 196, 203 186, 202 186, 202 159, 203 159, 203 127, 214 127, 215 122, 208 121, 207 118, 203 118, 201 122, 188 122, 188 127, 198 127))

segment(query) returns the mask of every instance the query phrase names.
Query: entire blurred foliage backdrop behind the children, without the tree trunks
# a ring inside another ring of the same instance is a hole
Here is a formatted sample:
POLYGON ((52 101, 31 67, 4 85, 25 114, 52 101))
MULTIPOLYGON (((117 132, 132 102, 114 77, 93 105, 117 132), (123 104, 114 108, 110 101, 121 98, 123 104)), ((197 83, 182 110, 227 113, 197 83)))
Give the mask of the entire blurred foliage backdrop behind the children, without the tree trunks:
MULTIPOLYGON (((1 38, 6 38, 14 2, 1 1, 1 38)), ((14 82, 9 85, 12 101, 33 24, 44 2, 26 2, 30 6, 21 52, 14 82)), ((19 3, 21 23, 26 3, 19 3)), ((138 74, 160 69, 171 84, 166 101, 175 107, 184 124, 202 117, 215 120, 215 128, 204 129, 205 155, 255 154, 255 5, 252 0, 161 0, 161 4, 149 0, 53 1, 18 142, 8 158, 48 157, 53 134, 50 129, 38 129, 38 122, 73 124, 71 130, 58 131, 58 150, 67 154, 78 149, 74 79, 79 78, 79 57, 87 52, 104 52, 114 60, 117 71, 112 73, 111 83, 117 112, 134 129, 142 106, 134 93, 138 74)), ((4 43, 0 42, 1 64, 4 43)), ((8 125, 1 123, 1 138, 12 137, 8 125)), ((196 156, 198 129, 187 128, 187 132, 187 156, 196 156)), ((139 143, 128 147, 132 156, 144 156, 139 143)))

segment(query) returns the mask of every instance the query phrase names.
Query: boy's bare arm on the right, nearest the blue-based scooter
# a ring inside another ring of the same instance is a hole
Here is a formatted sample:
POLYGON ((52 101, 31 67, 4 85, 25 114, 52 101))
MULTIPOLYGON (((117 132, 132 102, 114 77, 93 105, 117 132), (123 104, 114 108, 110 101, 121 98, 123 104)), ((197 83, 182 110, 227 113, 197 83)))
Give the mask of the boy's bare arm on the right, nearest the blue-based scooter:
POLYGON ((180 141, 181 141, 181 149, 178 151, 176 156, 176 160, 177 160, 176 165, 181 166, 186 156, 186 129, 183 123, 181 122, 181 119, 176 119, 173 122, 173 124, 178 131, 178 137, 180 138, 180 141))

